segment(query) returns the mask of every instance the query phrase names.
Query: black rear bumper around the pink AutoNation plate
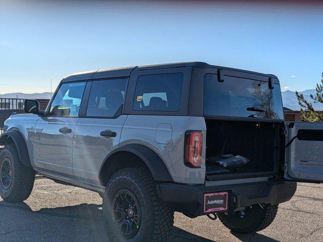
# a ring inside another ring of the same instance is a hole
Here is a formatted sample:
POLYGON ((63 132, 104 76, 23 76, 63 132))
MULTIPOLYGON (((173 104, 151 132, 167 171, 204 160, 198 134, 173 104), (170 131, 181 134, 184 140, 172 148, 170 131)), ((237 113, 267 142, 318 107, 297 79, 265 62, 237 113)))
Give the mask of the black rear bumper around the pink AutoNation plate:
POLYGON ((160 183, 157 191, 164 203, 174 211, 190 217, 204 215, 204 194, 229 192, 228 209, 233 211, 240 207, 254 204, 279 204, 289 201, 296 192, 297 185, 291 181, 261 181, 206 187, 205 185, 180 185, 160 183))

